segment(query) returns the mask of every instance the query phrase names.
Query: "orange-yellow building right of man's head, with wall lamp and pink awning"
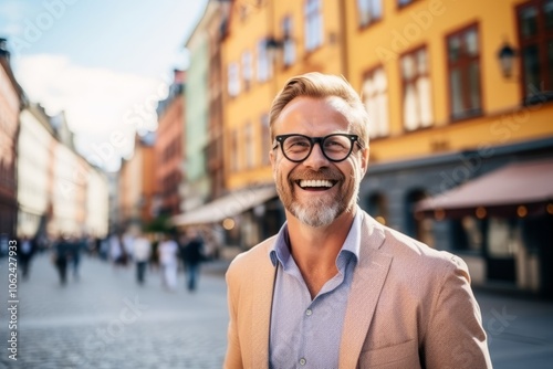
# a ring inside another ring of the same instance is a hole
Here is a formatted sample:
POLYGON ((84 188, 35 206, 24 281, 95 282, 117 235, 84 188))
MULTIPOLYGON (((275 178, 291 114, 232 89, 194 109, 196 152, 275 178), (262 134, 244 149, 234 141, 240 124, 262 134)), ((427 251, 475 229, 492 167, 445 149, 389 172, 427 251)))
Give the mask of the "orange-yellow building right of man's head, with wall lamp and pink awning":
POLYGON ((461 255, 473 284, 552 294, 553 3, 346 3, 373 123, 362 207, 461 255))

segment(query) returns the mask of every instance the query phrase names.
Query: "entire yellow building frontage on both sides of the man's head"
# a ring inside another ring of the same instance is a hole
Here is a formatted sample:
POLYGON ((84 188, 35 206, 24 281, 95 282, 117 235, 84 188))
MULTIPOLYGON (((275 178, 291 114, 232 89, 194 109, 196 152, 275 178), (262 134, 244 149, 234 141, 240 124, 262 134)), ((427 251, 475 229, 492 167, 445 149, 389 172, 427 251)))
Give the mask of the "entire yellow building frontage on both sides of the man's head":
POLYGON ((361 207, 460 254, 474 284, 551 294, 553 235, 535 230, 553 229, 541 176, 553 172, 552 19, 551 0, 232 1, 221 44, 225 178, 251 196, 216 208, 234 209, 222 215, 239 222, 227 225, 242 246, 274 232, 279 201, 255 192, 272 183, 270 104, 293 75, 341 74, 372 119, 361 207))

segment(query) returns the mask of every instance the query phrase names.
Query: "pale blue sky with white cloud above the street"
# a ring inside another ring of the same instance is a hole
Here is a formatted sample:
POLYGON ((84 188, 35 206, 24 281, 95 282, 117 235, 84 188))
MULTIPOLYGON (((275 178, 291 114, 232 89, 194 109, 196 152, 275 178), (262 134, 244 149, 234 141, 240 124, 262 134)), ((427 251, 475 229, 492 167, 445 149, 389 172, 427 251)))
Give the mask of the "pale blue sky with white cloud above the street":
POLYGON ((77 151, 116 171, 157 102, 207 0, 0 0, 0 38, 32 103, 64 112, 77 151))

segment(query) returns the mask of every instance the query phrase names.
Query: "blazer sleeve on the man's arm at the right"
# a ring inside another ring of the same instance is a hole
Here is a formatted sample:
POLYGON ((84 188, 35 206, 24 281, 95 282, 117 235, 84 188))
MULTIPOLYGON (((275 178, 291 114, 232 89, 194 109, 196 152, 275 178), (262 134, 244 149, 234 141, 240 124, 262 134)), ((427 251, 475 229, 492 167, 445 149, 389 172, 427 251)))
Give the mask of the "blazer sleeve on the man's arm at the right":
POLYGON ((426 368, 492 368, 468 267, 457 256, 442 265, 421 352, 426 368))

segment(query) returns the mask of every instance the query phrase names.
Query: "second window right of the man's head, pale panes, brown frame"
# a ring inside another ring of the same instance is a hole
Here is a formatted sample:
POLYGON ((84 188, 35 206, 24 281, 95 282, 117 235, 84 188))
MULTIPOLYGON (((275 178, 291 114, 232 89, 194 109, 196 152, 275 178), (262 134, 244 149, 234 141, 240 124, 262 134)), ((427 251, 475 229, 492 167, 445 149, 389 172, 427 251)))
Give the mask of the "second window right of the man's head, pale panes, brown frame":
POLYGON ((400 60, 404 127, 415 130, 432 123, 431 87, 426 49, 410 52, 400 60))

